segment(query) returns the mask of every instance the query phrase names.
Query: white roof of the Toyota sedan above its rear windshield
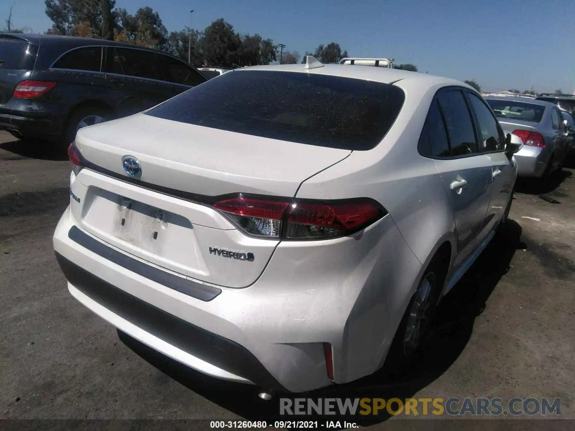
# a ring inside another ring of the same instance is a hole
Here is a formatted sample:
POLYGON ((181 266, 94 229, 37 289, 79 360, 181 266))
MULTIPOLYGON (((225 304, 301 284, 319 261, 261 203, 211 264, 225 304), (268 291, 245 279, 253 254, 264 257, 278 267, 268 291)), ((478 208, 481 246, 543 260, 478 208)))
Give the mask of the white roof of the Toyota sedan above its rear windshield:
POLYGON ((305 64, 271 64, 267 66, 248 66, 242 67, 232 72, 246 71, 280 71, 280 72, 302 72, 308 74, 343 76, 346 78, 366 79, 370 81, 393 84, 401 80, 410 80, 423 86, 435 86, 444 84, 444 86, 461 86, 471 88, 466 83, 456 79, 443 78, 442 76, 420 74, 419 72, 410 72, 407 70, 391 69, 386 67, 375 66, 355 66, 351 64, 324 64, 321 67, 306 69, 305 64))

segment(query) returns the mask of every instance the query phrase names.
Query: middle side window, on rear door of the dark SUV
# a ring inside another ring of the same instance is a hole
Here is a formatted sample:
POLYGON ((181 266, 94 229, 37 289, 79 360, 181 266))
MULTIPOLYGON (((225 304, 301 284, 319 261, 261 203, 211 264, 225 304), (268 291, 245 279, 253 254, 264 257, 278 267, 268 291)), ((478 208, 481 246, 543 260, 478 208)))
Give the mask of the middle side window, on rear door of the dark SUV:
POLYGON ((108 47, 106 72, 164 80, 156 54, 143 49, 108 47))

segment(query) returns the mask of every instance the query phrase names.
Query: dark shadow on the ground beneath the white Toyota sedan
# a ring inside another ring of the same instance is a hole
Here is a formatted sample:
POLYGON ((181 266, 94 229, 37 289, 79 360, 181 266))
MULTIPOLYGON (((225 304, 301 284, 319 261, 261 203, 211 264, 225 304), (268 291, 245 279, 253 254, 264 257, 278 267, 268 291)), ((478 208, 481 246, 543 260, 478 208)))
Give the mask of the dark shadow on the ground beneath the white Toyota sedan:
MULTIPOLYGON (((247 420, 289 420, 296 417, 279 415, 279 398, 410 398, 421 388, 442 375, 454 363, 465 348, 473 323, 485 309, 485 304, 500 278, 509 270, 515 251, 524 249, 520 242, 521 227, 508 220, 503 232, 496 235, 485 251, 471 266, 466 275, 448 293, 438 306, 438 313, 425 348, 415 364, 402 368, 384 367, 373 375, 352 383, 331 386, 305 394, 277 394, 271 401, 258 398, 258 388, 251 385, 225 382, 210 378, 200 372, 134 340, 118 331, 124 344, 160 371, 183 384, 191 391, 209 399, 247 420)), ((337 410, 337 409, 336 409, 337 410)), ((389 418, 389 414, 377 416, 340 417, 331 415, 331 421, 351 419, 359 425, 371 425, 389 418)), ((302 417, 297 417, 301 419, 302 417)), ((307 419, 308 417, 306 417, 307 419)), ((324 420, 327 417, 323 417, 324 420)))

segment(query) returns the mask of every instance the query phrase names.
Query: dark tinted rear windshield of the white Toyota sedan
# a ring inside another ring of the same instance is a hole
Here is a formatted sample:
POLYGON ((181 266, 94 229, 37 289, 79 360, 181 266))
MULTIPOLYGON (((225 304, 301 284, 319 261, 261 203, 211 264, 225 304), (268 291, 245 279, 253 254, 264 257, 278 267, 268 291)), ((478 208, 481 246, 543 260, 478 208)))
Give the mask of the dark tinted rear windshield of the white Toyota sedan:
POLYGON ((404 102, 401 88, 301 72, 231 71, 147 111, 231 132, 321 147, 375 147, 404 102))

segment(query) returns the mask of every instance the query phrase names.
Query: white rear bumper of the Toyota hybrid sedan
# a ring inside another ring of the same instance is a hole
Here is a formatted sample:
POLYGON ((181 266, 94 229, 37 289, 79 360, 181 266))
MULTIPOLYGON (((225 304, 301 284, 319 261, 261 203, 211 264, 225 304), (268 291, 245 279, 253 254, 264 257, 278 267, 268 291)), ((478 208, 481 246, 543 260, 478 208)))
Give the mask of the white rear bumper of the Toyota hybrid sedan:
POLYGON ((355 237, 281 243, 250 287, 217 287, 221 293, 201 299, 84 247, 70 238, 75 225, 68 208, 53 245, 83 305, 205 374, 292 392, 377 371, 423 270, 384 217, 355 237))

